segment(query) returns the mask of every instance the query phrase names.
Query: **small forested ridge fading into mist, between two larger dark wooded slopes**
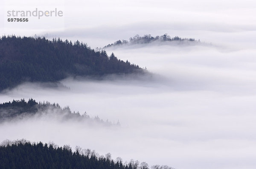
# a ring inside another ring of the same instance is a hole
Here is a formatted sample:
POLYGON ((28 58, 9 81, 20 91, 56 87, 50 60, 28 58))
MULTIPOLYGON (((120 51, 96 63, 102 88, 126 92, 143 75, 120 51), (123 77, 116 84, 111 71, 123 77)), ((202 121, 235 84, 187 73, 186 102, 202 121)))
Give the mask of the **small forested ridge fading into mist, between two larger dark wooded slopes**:
POLYGON ((48 101, 38 103, 34 99, 29 99, 29 101, 20 99, 0 104, 0 123, 3 121, 21 120, 35 116, 38 118, 48 116, 62 122, 72 120, 76 122, 80 121, 90 125, 120 125, 119 121, 116 124, 112 124, 111 121, 103 121, 98 116, 90 118, 86 112, 80 115, 79 112, 71 112, 69 106, 61 108, 59 104, 51 104, 48 101))

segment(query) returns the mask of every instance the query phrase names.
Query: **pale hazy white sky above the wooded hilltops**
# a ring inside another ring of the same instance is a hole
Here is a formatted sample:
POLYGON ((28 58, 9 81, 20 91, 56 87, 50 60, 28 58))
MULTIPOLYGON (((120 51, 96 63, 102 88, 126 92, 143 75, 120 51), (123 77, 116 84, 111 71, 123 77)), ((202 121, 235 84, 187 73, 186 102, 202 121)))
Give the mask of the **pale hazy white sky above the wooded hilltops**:
MULTIPOLYGON (((254 0, 5 0, 0 34, 79 39, 93 48, 136 34, 169 34, 222 42, 230 33, 249 32, 255 38, 254 0), (8 10, 52 10, 63 17, 29 18, 28 23, 8 23, 8 10), (4 19, 3 19, 4 18, 4 19), (219 37, 216 32, 220 33, 219 37), (223 34, 223 35, 222 35, 223 34)), ((232 35, 231 35, 232 36, 232 35)), ((244 34, 243 34, 244 36, 244 34)), ((228 37, 230 39, 230 37, 228 37)), ((228 39, 228 40, 229 40, 228 39)))

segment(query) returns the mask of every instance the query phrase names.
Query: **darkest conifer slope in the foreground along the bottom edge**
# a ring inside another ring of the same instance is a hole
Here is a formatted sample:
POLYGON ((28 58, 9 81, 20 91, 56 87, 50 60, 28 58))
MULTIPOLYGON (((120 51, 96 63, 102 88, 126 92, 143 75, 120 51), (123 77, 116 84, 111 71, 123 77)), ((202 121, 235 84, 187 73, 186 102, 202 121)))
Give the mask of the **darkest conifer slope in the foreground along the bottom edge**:
POLYGON ((70 148, 26 141, 0 146, 0 169, 137 169, 137 166, 98 157, 96 153, 72 152, 70 148))

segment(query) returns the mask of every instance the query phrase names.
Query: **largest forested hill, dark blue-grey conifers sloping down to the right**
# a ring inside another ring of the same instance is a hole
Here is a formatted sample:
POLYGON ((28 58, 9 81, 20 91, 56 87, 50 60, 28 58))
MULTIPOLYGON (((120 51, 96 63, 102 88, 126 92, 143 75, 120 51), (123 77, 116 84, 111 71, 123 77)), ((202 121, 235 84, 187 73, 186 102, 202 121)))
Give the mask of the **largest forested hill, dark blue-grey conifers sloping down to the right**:
POLYGON ((143 72, 138 65, 87 44, 61 39, 0 38, 0 91, 21 82, 56 82, 67 76, 102 76, 143 72))

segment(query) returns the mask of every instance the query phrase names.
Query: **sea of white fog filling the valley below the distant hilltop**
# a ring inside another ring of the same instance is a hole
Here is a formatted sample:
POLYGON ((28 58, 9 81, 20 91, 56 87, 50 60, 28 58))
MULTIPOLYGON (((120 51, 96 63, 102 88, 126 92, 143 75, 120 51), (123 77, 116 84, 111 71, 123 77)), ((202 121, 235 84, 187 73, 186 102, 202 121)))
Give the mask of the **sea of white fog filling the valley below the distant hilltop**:
MULTIPOLYGON (((244 44, 244 43, 243 43, 244 44)), ((237 45, 237 43, 235 44, 237 45)), ((256 167, 256 50, 234 45, 108 48, 152 76, 64 79, 66 87, 25 83, 0 102, 50 101, 120 127, 29 118, 0 124, 0 141, 25 138, 95 149, 112 158, 176 169, 256 167)))

